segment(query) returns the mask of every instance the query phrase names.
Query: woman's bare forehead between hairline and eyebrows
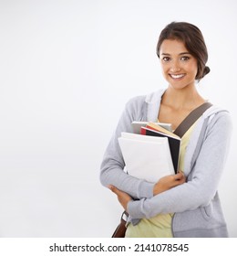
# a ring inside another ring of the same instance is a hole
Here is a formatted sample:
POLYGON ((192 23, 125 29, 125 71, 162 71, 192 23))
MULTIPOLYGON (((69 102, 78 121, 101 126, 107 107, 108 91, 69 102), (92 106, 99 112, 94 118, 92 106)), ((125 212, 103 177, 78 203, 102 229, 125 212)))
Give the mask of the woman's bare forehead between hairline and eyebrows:
POLYGON ((160 45, 160 54, 180 54, 182 52, 189 52, 184 43, 177 39, 165 39, 160 45))

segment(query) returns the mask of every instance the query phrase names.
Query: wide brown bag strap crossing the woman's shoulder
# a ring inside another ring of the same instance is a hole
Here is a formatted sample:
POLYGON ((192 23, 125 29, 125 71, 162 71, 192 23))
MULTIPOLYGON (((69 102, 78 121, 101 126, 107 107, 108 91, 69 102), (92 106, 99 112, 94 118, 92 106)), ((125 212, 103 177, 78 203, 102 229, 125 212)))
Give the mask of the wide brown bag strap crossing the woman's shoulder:
POLYGON ((186 133, 191 125, 195 123, 200 117, 203 112, 205 112, 208 108, 210 108, 212 104, 210 102, 205 102, 201 104, 198 108, 193 110, 175 129, 173 133, 178 135, 180 138, 186 133))

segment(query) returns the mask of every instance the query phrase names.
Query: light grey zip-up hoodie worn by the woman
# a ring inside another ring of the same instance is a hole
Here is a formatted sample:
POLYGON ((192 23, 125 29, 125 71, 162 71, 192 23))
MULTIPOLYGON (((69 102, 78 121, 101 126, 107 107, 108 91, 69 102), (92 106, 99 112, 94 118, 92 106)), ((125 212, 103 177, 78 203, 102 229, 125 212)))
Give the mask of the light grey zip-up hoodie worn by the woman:
POLYGON ((174 237, 228 237, 218 185, 228 155, 232 121, 229 112, 211 106, 196 123, 187 146, 184 174, 187 182, 153 197, 153 183, 129 176, 118 145, 121 132, 132 133, 132 121, 157 122, 164 89, 131 99, 105 152, 100 171, 104 186, 114 185, 135 200, 129 202, 129 221, 175 213, 174 237))

